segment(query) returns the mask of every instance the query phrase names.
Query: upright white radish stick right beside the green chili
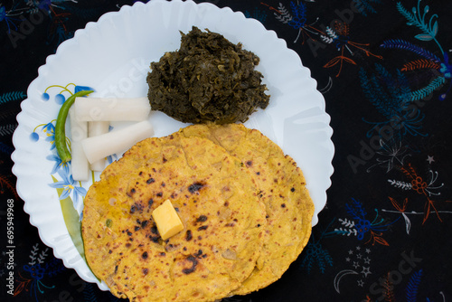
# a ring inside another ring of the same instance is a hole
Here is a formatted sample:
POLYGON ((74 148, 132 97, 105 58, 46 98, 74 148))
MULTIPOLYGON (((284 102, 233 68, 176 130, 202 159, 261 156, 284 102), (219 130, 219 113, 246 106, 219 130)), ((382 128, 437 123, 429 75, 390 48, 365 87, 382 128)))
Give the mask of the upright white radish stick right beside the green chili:
POLYGON ((89 164, 83 151, 83 146, 81 146, 81 141, 88 137, 88 123, 76 118, 73 108, 69 110, 69 118, 71 123, 72 178, 76 181, 84 182, 89 179, 89 164))

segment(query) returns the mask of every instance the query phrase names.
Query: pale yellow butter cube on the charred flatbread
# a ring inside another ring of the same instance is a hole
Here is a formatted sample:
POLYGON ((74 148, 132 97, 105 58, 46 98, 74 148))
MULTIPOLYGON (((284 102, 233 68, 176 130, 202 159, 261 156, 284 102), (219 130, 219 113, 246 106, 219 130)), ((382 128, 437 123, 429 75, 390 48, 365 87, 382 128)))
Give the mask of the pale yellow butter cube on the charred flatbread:
POLYGON ((179 231, 184 230, 184 224, 181 222, 179 215, 175 212, 173 204, 169 199, 155 208, 154 212, 152 212, 152 217, 164 241, 179 231))

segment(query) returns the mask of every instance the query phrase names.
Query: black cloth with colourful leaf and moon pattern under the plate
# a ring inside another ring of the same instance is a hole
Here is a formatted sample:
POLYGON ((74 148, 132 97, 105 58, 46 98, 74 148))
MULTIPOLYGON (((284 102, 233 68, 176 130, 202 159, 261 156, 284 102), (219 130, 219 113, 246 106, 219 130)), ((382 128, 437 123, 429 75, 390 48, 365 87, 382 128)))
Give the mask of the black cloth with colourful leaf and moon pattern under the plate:
MULTIPOLYGON (((42 243, 15 192, 10 156, 15 117, 46 57, 135 2, 0 4, 1 301, 118 300, 42 243), (14 249, 6 248, 11 221, 14 249)), ((452 301, 452 1, 208 2, 259 20, 299 54, 325 97, 335 146, 327 203, 306 249, 268 288, 224 300, 452 301)))

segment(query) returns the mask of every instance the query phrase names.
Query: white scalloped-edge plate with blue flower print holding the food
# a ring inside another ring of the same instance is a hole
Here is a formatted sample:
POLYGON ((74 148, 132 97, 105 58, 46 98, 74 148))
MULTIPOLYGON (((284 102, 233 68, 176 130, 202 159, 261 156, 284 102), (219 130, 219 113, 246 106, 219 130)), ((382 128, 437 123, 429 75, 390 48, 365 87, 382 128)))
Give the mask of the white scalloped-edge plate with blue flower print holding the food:
MULTIPOLYGON (((73 182, 70 166, 58 165, 52 147, 54 119, 61 101, 80 86, 95 89, 92 96, 146 96, 149 63, 158 61, 166 51, 176 50, 179 31, 187 33, 193 25, 221 33, 231 42, 242 42, 244 49, 259 56, 258 70, 271 98, 268 108, 254 113, 245 126, 258 128, 297 161, 315 202, 313 225, 325 206, 333 174, 330 117, 310 71, 296 52, 287 49, 284 40, 244 14, 207 3, 153 0, 146 5, 123 6, 119 12, 87 24, 47 58, 27 91, 13 137, 13 172, 30 222, 55 257, 101 289, 108 290, 91 273, 71 240, 60 202, 72 201, 80 214, 82 196, 92 182, 73 182)), ((156 137, 186 126, 159 112, 151 113, 150 119, 156 137)))

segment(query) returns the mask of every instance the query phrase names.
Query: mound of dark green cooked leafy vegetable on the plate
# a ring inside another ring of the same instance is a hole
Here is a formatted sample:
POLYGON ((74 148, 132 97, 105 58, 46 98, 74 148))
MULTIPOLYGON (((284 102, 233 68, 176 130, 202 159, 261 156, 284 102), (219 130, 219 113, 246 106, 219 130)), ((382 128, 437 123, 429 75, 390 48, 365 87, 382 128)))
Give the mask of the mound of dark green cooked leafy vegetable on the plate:
POLYGON ((147 97, 151 109, 187 123, 244 122, 268 106, 259 57, 220 33, 193 26, 181 47, 151 63, 147 97))

